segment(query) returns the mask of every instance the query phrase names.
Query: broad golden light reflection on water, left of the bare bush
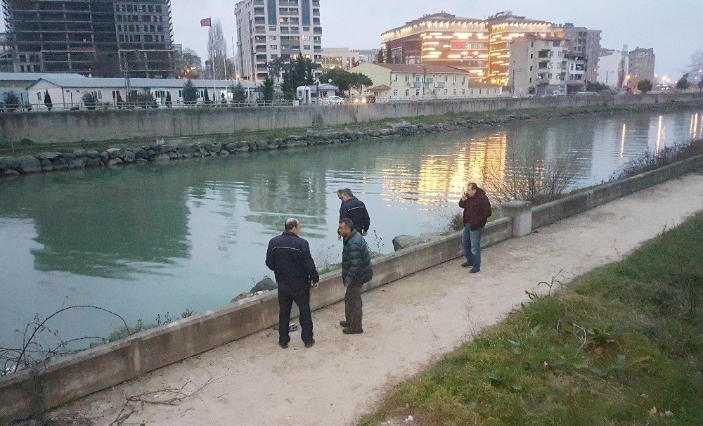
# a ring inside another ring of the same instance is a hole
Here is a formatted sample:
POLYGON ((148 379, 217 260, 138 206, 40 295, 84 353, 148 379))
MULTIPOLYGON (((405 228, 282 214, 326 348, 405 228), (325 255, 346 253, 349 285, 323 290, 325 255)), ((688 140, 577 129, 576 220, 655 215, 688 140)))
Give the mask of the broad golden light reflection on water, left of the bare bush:
POLYGON ((420 160, 417 172, 407 164, 396 164, 384 170, 382 196, 384 200, 396 200, 400 193, 402 202, 417 202, 427 206, 444 205, 464 191, 466 184, 486 179, 503 179, 505 157, 508 150, 508 134, 498 132, 484 138, 475 138, 462 143, 455 154, 430 153, 420 160))

